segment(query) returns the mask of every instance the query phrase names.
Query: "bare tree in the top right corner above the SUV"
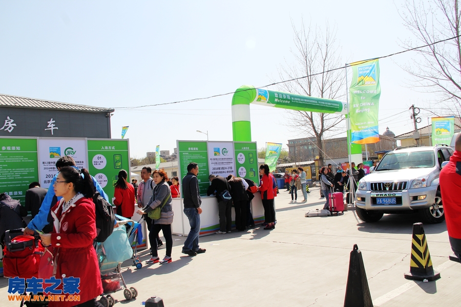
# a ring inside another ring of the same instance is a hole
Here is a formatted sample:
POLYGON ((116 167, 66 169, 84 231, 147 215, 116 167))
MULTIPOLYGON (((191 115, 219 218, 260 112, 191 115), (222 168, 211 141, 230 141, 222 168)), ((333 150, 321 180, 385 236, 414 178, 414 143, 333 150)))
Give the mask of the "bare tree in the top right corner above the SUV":
POLYGON ((414 77, 416 89, 436 94, 437 109, 445 115, 461 113, 461 7, 458 0, 407 0, 400 12, 405 26, 413 33, 415 41, 406 40, 406 49, 417 49, 421 57, 413 58, 403 69, 414 77), (445 107, 443 107, 445 106, 445 107))

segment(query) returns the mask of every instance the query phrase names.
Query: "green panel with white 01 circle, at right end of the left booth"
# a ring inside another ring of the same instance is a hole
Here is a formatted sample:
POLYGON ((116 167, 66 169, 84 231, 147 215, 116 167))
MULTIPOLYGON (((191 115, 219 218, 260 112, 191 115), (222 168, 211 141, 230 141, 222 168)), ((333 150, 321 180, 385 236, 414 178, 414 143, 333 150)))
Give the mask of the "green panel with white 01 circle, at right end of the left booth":
POLYGON ((128 140, 88 140, 88 168, 112 203, 118 172, 126 170, 131 182, 128 140))

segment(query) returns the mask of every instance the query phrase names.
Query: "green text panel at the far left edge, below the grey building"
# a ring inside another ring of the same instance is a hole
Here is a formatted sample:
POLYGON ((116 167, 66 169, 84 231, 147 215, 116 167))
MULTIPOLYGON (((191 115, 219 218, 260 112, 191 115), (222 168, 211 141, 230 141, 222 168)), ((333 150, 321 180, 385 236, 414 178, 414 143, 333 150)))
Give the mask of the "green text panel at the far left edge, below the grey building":
POLYGON ((37 139, 2 138, 0 146, 0 193, 25 205, 26 191, 38 181, 37 139))

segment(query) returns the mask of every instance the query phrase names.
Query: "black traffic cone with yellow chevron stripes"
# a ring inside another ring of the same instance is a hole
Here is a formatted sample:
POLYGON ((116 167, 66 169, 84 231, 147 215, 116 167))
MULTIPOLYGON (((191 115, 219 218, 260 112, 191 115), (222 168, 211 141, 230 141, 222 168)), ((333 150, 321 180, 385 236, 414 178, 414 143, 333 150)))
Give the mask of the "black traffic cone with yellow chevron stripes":
POLYGON ((413 237, 411 239, 410 272, 405 273, 406 279, 428 281, 440 278, 440 273, 432 268, 431 254, 427 246, 426 234, 423 223, 413 224, 413 237))

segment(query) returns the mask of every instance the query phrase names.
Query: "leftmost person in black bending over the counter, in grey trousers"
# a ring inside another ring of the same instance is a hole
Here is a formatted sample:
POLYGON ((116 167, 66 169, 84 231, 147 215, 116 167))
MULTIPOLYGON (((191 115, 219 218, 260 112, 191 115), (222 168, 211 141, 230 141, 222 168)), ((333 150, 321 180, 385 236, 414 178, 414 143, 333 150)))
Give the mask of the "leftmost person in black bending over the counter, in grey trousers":
POLYGON ((208 179, 212 184, 209 185, 206 195, 212 195, 216 191, 216 198, 218 199, 219 231, 216 233, 223 234, 226 232, 231 232, 232 200, 227 200, 219 196, 225 190, 231 192, 231 188, 227 184, 226 179, 221 176, 210 175, 208 179))

